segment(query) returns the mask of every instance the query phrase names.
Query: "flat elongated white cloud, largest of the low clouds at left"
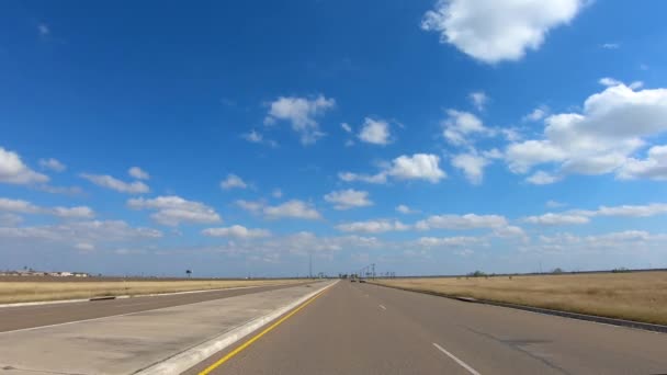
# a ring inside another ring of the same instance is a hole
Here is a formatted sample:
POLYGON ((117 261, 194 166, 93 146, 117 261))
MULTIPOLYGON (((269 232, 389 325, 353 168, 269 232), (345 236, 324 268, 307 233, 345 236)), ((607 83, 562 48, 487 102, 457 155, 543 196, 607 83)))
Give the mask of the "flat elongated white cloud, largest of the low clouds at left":
POLYGON ((162 225, 179 226, 181 224, 212 224, 222 218, 212 207, 201 203, 186 201, 177 195, 158 196, 155 198, 132 198, 127 205, 134 209, 155 209, 150 217, 162 225))

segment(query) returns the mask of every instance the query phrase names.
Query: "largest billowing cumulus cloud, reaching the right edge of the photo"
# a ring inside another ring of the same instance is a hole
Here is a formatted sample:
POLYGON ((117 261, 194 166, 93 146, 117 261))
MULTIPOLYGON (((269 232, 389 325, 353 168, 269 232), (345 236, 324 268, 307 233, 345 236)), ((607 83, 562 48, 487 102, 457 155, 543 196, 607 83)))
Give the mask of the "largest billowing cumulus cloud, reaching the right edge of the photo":
POLYGON ((580 113, 547 116, 541 139, 510 144, 505 152, 509 169, 527 173, 534 166, 553 166, 554 171, 529 181, 542 184, 573 173, 660 179, 666 149, 655 146, 644 160, 633 156, 649 137, 667 130, 667 89, 637 91, 617 81, 607 83, 585 101, 580 113))

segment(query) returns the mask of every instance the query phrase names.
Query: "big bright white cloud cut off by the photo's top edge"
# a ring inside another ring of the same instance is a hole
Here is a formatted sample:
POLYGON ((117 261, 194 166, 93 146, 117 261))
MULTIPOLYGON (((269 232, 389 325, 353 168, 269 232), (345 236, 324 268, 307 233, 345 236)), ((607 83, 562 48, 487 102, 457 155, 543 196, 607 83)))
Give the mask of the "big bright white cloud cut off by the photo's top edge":
POLYGON ((540 48, 550 30, 572 21, 581 0, 440 0, 421 29, 487 64, 518 60, 540 48))

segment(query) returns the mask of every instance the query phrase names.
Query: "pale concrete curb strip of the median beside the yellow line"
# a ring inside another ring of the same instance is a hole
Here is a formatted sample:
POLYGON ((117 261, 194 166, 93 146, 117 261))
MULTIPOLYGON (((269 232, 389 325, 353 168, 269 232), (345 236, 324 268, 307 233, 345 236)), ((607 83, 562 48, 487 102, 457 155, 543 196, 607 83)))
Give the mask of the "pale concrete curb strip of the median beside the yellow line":
POLYGON ((260 329, 261 327, 268 325, 269 322, 280 318, 282 315, 287 311, 296 308, 301 304, 310 299, 318 293, 324 292, 325 289, 336 285, 338 281, 325 285, 319 289, 308 293, 307 295, 281 307, 276 310, 273 310, 263 317, 256 318, 246 322, 242 326, 236 327, 230 331, 227 331, 216 338, 213 338, 208 341, 205 341, 196 346, 190 348, 181 353, 178 353, 171 357, 168 357, 161 362, 150 365, 149 367, 137 371, 135 374, 137 375, 158 375, 158 374, 181 374, 190 367, 201 363, 206 360, 211 355, 224 350, 225 348, 236 343, 237 341, 244 339, 246 336, 251 332, 260 329))

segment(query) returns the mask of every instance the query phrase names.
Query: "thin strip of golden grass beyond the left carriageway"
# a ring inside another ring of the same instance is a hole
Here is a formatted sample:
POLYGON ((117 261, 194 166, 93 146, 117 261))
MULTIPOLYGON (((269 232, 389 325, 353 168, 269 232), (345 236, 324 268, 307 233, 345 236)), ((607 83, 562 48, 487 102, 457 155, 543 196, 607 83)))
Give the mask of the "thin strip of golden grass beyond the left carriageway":
POLYGON ((0 304, 35 300, 78 299, 101 296, 173 293, 200 289, 217 289, 237 286, 262 286, 299 283, 298 280, 192 280, 192 281, 2 281, 0 304))

